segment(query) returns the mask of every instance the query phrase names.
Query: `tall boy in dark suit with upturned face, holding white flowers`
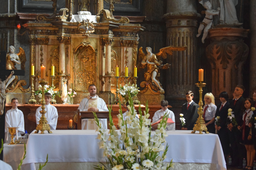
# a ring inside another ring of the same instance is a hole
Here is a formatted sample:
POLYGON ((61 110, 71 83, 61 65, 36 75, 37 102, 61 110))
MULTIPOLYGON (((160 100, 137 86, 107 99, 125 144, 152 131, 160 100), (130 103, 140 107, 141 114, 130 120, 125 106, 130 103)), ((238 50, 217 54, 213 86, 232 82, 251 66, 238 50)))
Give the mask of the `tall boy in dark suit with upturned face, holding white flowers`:
MULTIPOLYGON (((244 108, 244 98, 242 94, 244 93, 245 88, 243 85, 236 85, 234 91, 234 98, 230 101, 230 107, 232 112, 234 112, 234 116, 236 118, 236 122, 238 126, 243 124, 243 118, 241 114, 242 108, 244 108)), ((229 141, 233 151, 232 165, 241 167, 242 160, 246 156, 246 150, 244 145, 240 144, 241 141, 241 132, 237 129, 237 127, 233 127, 233 124, 230 123, 227 125, 229 129, 229 141)))

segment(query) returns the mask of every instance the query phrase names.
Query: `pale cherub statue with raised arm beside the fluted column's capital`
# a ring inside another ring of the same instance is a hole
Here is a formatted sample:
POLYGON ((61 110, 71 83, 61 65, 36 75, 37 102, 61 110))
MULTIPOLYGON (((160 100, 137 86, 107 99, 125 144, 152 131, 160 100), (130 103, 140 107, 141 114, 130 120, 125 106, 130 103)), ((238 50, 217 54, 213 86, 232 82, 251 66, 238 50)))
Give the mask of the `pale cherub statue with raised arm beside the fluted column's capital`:
POLYGON ((209 1, 204 3, 204 8, 207 9, 205 11, 205 17, 204 17, 204 20, 200 23, 200 26, 198 28, 198 34, 196 35, 196 37, 199 37, 204 29, 204 34, 202 37, 203 43, 205 38, 208 35, 209 28, 211 28, 212 26, 213 15, 218 15, 220 13, 220 8, 218 8, 218 11, 212 9, 212 4, 209 1))

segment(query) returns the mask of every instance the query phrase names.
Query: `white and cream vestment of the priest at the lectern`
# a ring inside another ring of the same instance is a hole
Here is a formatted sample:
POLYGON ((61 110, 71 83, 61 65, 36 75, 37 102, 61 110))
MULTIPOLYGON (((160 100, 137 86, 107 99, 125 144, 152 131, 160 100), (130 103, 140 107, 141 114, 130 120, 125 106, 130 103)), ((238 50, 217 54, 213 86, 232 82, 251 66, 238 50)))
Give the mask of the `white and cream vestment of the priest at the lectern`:
MULTIPOLYGON (((89 108, 88 100, 90 100, 90 97, 92 99, 96 99, 98 97, 98 95, 93 96, 93 97, 88 96, 87 98, 82 99, 82 101, 80 102, 79 108, 78 108, 80 111, 88 111, 88 108, 89 108)), ((99 111, 108 111, 107 105, 103 99, 98 97, 96 103, 97 103, 97 109, 99 109, 99 111)), ((102 125, 103 125, 103 127, 105 127, 105 129, 108 128, 107 119, 99 119, 99 121, 102 123, 102 125)), ((81 125, 82 130, 96 130, 97 129, 97 125, 96 125, 94 119, 82 119, 81 124, 82 124, 81 125)))

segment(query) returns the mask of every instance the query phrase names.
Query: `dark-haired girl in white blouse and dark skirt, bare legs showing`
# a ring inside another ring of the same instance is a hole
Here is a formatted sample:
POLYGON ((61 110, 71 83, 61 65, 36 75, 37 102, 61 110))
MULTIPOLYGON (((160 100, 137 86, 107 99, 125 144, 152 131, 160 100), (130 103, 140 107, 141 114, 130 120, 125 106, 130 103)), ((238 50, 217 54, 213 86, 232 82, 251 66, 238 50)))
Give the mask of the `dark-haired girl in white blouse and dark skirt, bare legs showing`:
POLYGON ((244 113, 243 113, 243 125, 238 126, 238 129, 242 132, 242 141, 247 151, 247 166, 245 169, 253 169, 253 161, 255 156, 255 150, 253 146, 252 135, 250 133, 250 119, 253 117, 253 111, 251 110, 252 101, 250 98, 244 99, 244 113))

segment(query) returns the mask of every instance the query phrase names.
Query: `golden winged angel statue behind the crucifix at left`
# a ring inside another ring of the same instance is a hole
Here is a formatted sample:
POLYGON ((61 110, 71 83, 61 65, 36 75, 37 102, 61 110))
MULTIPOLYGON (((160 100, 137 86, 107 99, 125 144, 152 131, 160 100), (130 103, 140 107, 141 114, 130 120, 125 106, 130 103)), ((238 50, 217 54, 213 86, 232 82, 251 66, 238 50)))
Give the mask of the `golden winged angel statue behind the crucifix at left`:
MULTIPOLYGON (((20 51, 15 54, 15 47, 9 46, 9 53, 6 55, 6 69, 7 70, 17 70, 15 67, 16 64, 21 64, 21 69, 25 70, 25 62, 26 62, 26 54, 25 51, 20 47, 20 51)), ((12 76, 8 82, 6 82, 6 89, 9 86, 9 90, 14 89, 16 83, 18 81, 17 76, 12 76)))

